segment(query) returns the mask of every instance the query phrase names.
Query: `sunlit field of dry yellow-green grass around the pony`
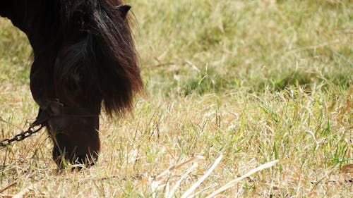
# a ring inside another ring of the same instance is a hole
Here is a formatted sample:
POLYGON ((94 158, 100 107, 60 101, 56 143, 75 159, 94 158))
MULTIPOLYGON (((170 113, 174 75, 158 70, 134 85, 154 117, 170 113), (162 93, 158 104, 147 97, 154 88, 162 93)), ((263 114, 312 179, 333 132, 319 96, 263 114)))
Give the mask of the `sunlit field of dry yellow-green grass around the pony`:
MULTIPOLYGON (((352 197, 351 0, 126 2, 136 109, 102 115, 100 160, 80 172, 57 173, 44 131, 0 149, 0 197, 206 197, 234 179, 216 197, 352 197)), ((30 57, 0 19, 0 139, 37 114, 30 57)))

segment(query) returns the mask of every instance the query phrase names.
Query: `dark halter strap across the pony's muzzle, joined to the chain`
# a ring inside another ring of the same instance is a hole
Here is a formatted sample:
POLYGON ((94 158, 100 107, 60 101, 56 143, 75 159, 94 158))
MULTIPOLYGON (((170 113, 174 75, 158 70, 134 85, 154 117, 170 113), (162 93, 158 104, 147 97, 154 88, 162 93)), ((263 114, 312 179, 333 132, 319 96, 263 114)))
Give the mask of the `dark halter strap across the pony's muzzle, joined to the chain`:
POLYGON ((43 125, 51 118, 56 117, 95 117, 100 115, 96 108, 68 107, 59 101, 49 101, 40 111, 31 126, 43 125))

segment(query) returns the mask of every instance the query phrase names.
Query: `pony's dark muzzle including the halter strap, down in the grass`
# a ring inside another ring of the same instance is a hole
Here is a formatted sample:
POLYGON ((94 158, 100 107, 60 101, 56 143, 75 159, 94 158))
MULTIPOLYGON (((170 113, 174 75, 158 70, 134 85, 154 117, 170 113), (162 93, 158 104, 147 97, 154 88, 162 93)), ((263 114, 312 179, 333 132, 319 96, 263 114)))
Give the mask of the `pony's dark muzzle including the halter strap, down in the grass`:
POLYGON ((54 142, 53 159, 59 168, 67 164, 92 166, 100 151, 100 109, 67 107, 50 101, 40 108, 33 124, 43 123, 54 142))

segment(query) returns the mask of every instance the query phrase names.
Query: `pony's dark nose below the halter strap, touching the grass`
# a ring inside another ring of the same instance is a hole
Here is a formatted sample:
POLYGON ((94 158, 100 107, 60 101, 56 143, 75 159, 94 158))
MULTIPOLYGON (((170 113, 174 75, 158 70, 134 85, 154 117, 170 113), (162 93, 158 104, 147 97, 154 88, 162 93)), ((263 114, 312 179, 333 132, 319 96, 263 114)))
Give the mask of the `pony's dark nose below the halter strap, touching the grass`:
POLYGON ((53 159, 59 168, 68 163, 92 166, 97 161, 100 151, 98 116, 52 118, 48 125, 54 142, 53 159))

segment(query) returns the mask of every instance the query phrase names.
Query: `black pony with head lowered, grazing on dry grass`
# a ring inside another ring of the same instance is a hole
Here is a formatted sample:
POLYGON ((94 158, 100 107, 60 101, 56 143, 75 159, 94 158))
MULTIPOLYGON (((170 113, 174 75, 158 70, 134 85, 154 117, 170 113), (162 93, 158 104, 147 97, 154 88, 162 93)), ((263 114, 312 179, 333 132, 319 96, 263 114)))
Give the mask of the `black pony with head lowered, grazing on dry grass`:
POLYGON ((120 0, 2 0, 0 16, 25 32, 34 52, 32 96, 37 122, 54 142, 53 159, 89 166, 100 151, 101 106, 131 110, 143 82, 120 0))

